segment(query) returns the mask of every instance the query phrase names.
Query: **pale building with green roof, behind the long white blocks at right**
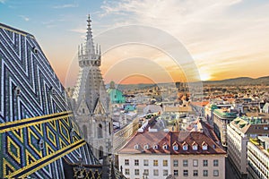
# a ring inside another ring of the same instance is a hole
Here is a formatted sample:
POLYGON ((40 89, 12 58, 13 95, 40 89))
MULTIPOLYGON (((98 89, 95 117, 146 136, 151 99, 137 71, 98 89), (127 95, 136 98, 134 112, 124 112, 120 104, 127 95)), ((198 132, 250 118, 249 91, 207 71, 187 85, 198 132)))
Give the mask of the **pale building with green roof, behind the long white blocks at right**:
POLYGON ((213 128, 221 140, 222 146, 227 146, 227 124, 237 117, 236 113, 230 112, 225 109, 214 109, 213 110, 213 128))

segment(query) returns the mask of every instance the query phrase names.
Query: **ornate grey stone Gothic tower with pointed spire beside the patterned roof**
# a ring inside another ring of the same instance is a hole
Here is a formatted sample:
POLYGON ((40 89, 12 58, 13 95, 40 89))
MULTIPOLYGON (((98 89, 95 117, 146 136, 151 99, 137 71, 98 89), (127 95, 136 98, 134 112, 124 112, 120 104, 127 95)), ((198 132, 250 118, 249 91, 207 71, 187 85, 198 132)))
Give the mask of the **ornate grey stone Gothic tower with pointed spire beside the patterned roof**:
POLYGON ((78 47, 80 72, 74 89, 74 115, 97 158, 111 153, 112 119, 109 98, 100 73, 100 47, 94 46, 90 15, 86 42, 78 47))

